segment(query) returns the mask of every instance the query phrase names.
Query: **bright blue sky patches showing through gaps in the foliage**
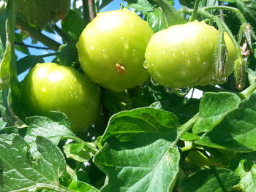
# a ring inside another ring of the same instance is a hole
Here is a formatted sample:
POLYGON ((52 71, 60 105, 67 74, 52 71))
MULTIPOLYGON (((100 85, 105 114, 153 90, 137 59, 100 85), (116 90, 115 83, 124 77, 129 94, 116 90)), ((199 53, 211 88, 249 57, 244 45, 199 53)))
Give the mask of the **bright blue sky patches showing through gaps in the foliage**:
MULTIPOLYGON (((72 2, 72 0, 71 0, 72 2)), ((106 11, 110 11, 110 10, 115 10, 115 9, 119 9, 120 5, 123 3, 124 1, 121 0, 114 0, 112 1, 110 4, 108 4, 108 6, 104 7, 103 9, 101 9, 101 12, 106 12, 106 11)), ((72 4, 72 3, 71 3, 72 4)), ((77 7, 80 7, 82 5, 82 0, 77 1, 77 7)), ((181 8, 181 4, 179 4, 178 0, 175 0, 175 6, 176 9, 180 9, 181 8)), ((61 27, 61 21, 59 21, 57 23, 57 25, 59 27, 61 27)), ((56 34, 50 34, 46 31, 42 31, 43 34, 47 35, 48 37, 50 37, 51 39, 54 39, 56 42, 59 42, 60 44, 62 44, 62 40, 61 37, 59 37, 59 35, 56 34)), ((31 44, 31 38, 28 38, 24 41, 24 43, 26 45, 32 45, 31 44)), ((34 44, 33 44, 34 45, 34 44)), ((36 45, 37 47, 45 47, 45 45, 43 45, 41 42, 37 42, 36 45)), ((45 55, 48 53, 53 53, 52 50, 41 50, 41 49, 35 49, 35 48, 29 48, 29 52, 31 53, 31 55, 45 55)), ((23 53, 20 53, 19 51, 16 51, 16 55, 18 56, 18 59, 25 57, 26 55, 23 53)), ((47 57, 44 58, 45 62, 50 62, 52 61, 54 58, 54 56, 51 57, 47 57)), ((27 74, 27 72, 24 72, 23 74, 20 74, 18 79, 19 80, 23 80, 23 77, 27 74)))

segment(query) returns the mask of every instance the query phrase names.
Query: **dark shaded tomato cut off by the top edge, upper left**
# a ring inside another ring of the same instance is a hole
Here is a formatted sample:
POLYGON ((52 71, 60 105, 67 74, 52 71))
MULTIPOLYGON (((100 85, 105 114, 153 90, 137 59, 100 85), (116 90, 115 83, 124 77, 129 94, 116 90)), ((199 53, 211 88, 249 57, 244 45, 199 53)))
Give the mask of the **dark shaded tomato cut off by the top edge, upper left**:
POLYGON ((17 11, 29 23, 44 28, 67 15, 70 0, 17 0, 17 11))

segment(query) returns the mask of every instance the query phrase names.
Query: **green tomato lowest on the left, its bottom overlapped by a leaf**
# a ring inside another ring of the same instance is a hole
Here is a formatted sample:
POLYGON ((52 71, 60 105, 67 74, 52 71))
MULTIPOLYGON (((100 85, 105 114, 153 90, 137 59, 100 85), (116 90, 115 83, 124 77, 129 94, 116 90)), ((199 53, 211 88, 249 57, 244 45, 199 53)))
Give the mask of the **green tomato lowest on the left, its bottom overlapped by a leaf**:
POLYGON ((99 98, 99 89, 84 74, 53 63, 34 66, 23 80, 20 96, 26 115, 64 112, 75 132, 94 123, 99 98))

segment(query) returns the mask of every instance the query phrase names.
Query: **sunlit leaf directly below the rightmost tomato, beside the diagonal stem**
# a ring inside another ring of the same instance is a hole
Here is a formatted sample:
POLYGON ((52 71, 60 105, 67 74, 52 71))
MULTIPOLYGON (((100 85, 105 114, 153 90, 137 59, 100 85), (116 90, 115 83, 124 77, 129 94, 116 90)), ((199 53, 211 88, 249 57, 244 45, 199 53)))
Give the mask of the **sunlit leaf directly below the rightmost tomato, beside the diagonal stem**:
POLYGON ((193 134, 211 131, 225 116, 238 108, 240 101, 234 93, 204 93, 193 134))

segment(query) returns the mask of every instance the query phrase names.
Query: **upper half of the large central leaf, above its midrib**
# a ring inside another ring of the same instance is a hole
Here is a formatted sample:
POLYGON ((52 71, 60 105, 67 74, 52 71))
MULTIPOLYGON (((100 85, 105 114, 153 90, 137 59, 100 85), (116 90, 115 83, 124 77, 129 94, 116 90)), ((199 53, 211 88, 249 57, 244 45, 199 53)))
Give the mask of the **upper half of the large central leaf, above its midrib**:
POLYGON ((173 113, 151 107, 138 108, 113 115, 101 142, 109 137, 129 140, 139 133, 170 134, 176 132, 176 128, 178 118, 173 113))

